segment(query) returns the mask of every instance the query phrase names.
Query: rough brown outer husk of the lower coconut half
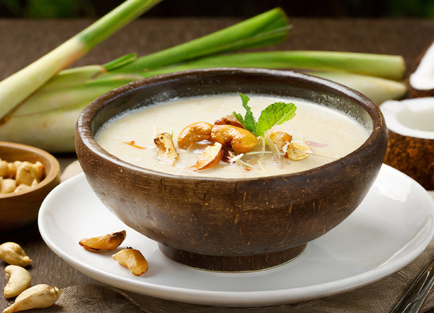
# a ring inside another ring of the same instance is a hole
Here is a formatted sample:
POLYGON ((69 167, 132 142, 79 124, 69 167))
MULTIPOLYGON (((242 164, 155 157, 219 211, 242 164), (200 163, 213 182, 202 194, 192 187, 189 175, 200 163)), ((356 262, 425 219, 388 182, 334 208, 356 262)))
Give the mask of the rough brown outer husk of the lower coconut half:
POLYGON ((384 163, 434 190, 434 140, 403 136, 389 130, 384 163))

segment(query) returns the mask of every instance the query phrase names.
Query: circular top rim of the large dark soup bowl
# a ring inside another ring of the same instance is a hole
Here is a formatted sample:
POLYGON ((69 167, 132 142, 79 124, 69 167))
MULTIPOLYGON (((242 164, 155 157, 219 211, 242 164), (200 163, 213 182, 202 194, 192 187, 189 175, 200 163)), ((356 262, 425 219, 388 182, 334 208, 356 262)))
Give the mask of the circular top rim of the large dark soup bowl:
MULTIPOLYGON (((238 183, 238 182, 252 182, 257 180, 273 180, 282 177, 287 178, 287 177, 299 177, 300 175, 309 175, 311 173, 315 173, 322 169, 331 169, 333 167, 342 166, 342 160, 349 159, 354 155, 360 155, 364 151, 369 150, 369 147, 374 142, 377 142, 377 139, 380 139, 382 136, 384 136, 384 134, 386 134, 387 136, 386 123, 384 121, 384 116, 382 115, 382 112, 372 100, 370 100, 369 98, 361 94, 359 91, 356 91, 354 89, 351 89, 339 83, 335 83, 332 80, 327 80, 325 78, 320 78, 317 76, 312 76, 301 72, 278 70, 278 69, 245 68, 245 67, 215 67, 215 68, 207 68, 207 69, 192 69, 188 71, 152 76, 149 78, 144 78, 143 80, 135 80, 132 83, 123 85, 121 87, 113 89, 112 91, 108 91, 107 93, 99 96, 98 98, 90 102, 90 104, 87 105, 83 109, 83 111, 81 111, 81 114, 76 124, 76 138, 77 136, 79 136, 82 143, 87 147, 87 149, 90 149, 92 153, 96 153, 96 155, 99 155, 100 158, 113 162, 118 166, 122 166, 124 169, 129 169, 130 171, 136 171, 139 174, 152 175, 154 177, 161 177, 162 179, 163 178, 178 179, 178 180, 184 180, 188 182, 213 181, 213 182, 238 183), (309 83, 316 83, 319 85, 323 85, 324 87, 335 89, 335 91, 338 91, 338 93, 342 94, 342 96, 348 96, 350 98, 353 98, 353 100, 355 100, 355 102, 357 102, 362 107, 362 109, 364 109, 364 111, 366 111, 366 113, 369 114, 373 122, 372 133, 369 135, 368 138, 366 138, 363 144, 360 147, 358 147, 358 149, 355 149, 351 153, 344 155, 342 158, 323 164, 321 166, 314 167, 313 169, 308 169, 306 171, 299 171, 296 173, 288 173, 288 174, 280 174, 280 175, 278 174, 278 175, 261 176, 261 177, 243 177, 243 178, 207 177, 207 176, 194 176, 194 175, 183 176, 183 175, 164 173, 161 171, 154 171, 152 169, 145 169, 141 166, 137 166, 135 164, 126 162, 124 160, 121 160, 120 158, 117 158, 115 155, 112 155, 112 153, 109 153, 108 151, 103 149, 103 147, 101 147, 99 143, 96 142, 94 136, 92 135, 93 118, 96 116, 96 114, 98 114, 100 109, 105 107, 105 105, 108 102, 114 100, 114 98, 118 98, 119 96, 122 96, 123 94, 133 91, 134 89, 142 87, 143 85, 150 85, 150 84, 160 83, 167 80, 174 80, 176 78, 183 78, 184 76, 213 74, 213 73, 262 74, 265 76, 287 76, 289 78, 307 80, 309 81, 309 83)), ((76 140, 76 145, 77 145, 77 140, 76 140)), ((81 160, 79 159, 79 161, 81 160)))

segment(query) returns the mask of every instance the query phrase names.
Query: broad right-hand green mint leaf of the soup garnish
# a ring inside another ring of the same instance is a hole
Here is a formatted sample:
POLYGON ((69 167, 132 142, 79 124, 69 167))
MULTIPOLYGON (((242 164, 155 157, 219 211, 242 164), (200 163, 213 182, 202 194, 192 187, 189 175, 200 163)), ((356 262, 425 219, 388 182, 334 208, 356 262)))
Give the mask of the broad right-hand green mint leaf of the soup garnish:
POLYGON ((269 105, 260 113, 256 125, 256 136, 264 136, 265 131, 274 125, 280 125, 296 116, 296 105, 293 103, 276 102, 269 105))

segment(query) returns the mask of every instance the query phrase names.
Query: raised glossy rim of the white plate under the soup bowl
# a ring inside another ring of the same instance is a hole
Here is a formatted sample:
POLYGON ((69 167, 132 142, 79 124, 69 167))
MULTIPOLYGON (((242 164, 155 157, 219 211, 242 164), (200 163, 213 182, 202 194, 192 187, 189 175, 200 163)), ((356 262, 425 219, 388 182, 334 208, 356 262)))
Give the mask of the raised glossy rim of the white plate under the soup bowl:
MULTIPOLYGON (((420 184, 415 182, 415 180, 413 180, 411 177, 386 164, 382 164, 382 169, 380 171, 392 171, 394 175, 400 175, 404 180, 411 180, 412 185, 415 185, 417 186, 416 188, 420 188, 422 191, 425 191, 426 199, 431 200, 431 217, 434 216, 433 198, 420 184)), ((380 279, 397 272, 398 270, 404 268, 404 266, 411 263, 411 261, 416 259, 416 257, 418 257, 425 250, 426 246, 428 246, 428 244, 431 242, 431 239, 434 235, 434 224, 431 222, 429 232, 426 234, 426 237, 424 237, 422 243, 418 246, 415 246, 410 253, 400 256, 399 259, 393 260, 393 262, 389 262, 390 259, 386 260, 379 266, 366 272, 362 272, 351 277, 346 277, 344 279, 329 281, 327 283, 319 283, 316 285, 262 291, 198 290, 169 285, 158 285, 155 283, 149 283, 147 281, 133 281, 125 277, 118 277, 115 274, 99 270, 94 266, 89 266, 86 263, 78 261, 54 244, 50 237, 45 233, 45 229, 43 228, 43 216, 45 215, 45 211, 49 211, 47 208, 47 203, 50 202, 52 194, 55 194, 57 190, 61 188, 68 188, 68 186, 77 184, 82 180, 88 184, 84 173, 76 175, 66 182, 63 182, 59 186, 56 186, 56 188, 54 188, 53 191, 44 199, 39 211, 38 226, 39 232, 41 233, 41 237, 45 241, 45 244, 47 244, 48 247, 54 253, 56 253, 56 255, 59 255, 63 261, 70 264, 70 266, 76 268, 80 272, 83 272, 83 274, 96 279, 97 281, 107 283, 108 285, 112 285, 123 290, 128 290, 130 292, 155 296, 169 301, 180 301, 200 305, 217 305, 225 307, 259 307, 320 299, 325 296, 340 294, 342 292, 360 288, 364 285, 369 285, 370 283, 379 281, 380 279), (387 268, 384 268, 385 263, 388 263, 389 265, 387 268), (329 286, 333 286, 333 288, 329 288, 329 286), (288 292, 290 292, 290 296, 288 295, 288 292)), ((397 252, 399 252, 399 250, 397 250, 397 252)))

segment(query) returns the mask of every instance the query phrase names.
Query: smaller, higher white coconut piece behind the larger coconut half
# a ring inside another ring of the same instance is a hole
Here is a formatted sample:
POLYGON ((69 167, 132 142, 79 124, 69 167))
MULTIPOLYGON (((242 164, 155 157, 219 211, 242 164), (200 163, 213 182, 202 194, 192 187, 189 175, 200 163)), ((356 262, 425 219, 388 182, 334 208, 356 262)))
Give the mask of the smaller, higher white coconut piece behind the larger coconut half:
POLYGON ((434 41, 417 59, 408 83, 413 97, 434 96, 434 41))

